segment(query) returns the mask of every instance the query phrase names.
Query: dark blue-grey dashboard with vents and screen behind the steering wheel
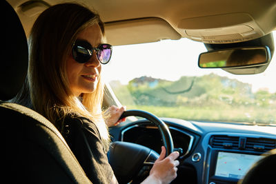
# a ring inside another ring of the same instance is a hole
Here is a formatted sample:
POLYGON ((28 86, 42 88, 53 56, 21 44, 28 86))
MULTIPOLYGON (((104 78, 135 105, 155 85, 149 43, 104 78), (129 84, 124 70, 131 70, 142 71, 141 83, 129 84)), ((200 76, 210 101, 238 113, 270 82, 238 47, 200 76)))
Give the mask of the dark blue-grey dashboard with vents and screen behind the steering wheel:
MULTIPOLYGON (((161 118, 175 148, 181 148, 172 183, 237 183, 266 152, 276 148, 276 127, 161 118)), ((112 141, 144 145, 161 152, 161 135, 146 119, 110 129, 112 141)))

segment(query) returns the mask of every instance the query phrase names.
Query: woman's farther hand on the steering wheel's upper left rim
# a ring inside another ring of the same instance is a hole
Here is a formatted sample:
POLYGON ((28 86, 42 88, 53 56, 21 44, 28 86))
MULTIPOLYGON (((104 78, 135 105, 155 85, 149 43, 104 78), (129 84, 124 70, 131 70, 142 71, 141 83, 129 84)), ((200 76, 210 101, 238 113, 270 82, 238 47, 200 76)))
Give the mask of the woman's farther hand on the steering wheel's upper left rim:
POLYGON ((119 119, 121 114, 123 114, 125 110, 126 110, 126 107, 118 108, 115 105, 110 106, 110 108, 108 108, 108 110, 106 111, 106 113, 109 114, 109 118, 106 120, 106 125, 108 127, 112 127, 112 126, 118 125, 123 121, 126 121, 126 118, 119 119))

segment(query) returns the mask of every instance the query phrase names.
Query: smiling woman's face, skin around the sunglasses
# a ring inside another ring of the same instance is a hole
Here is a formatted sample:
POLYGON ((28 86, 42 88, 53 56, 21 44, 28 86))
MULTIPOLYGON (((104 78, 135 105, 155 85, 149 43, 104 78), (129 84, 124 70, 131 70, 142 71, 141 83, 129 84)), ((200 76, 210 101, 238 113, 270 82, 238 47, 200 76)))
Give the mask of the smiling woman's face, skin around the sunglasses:
MULTIPOLYGON (((103 34, 98 24, 92 25, 81 31, 77 39, 88 41, 93 48, 97 48, 103 43, 103 34)), ((70 89, 75 96, 81 93, 91 93, 97 88, 99 74, 101 73, 101 63, 97 59, 96 53, 86 63, 78 63, 72 57, 68 57, 67 75, 70 83, 70 89)))

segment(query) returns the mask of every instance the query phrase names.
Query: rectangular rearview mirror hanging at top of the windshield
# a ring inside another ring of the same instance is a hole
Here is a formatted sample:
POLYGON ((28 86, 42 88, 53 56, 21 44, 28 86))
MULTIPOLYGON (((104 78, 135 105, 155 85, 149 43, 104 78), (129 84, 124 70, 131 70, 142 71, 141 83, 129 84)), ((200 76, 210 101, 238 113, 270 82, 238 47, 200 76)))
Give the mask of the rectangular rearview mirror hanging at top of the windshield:
POLYGON ((267 46, 212 50, 199 55, 199 68, 248 68, 270 61, 267 46))

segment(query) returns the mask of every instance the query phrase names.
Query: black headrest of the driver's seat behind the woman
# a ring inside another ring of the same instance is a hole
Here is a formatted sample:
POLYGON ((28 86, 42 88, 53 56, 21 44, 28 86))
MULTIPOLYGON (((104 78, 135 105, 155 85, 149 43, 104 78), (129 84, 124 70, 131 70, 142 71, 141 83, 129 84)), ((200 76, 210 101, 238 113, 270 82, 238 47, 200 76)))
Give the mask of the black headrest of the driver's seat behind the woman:
POLYGON ((28 43, 21 21, 12 6, 1 1, 0 100, 12 99, 21 89, 28 70, 28 43))

